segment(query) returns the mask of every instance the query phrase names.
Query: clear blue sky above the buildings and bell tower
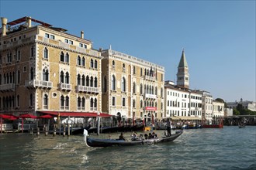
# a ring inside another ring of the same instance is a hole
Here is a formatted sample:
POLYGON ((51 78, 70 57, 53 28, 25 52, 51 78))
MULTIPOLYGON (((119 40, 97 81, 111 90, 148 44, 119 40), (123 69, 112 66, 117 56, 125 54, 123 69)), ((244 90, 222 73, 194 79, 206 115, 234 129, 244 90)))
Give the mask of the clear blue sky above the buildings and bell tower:
POLYGON ((185 48, 190 88, 213 98, 256 100, 255 1, 2 1, 1 17, 23 16, 67 29, 165 67, 176 80, 185 48))

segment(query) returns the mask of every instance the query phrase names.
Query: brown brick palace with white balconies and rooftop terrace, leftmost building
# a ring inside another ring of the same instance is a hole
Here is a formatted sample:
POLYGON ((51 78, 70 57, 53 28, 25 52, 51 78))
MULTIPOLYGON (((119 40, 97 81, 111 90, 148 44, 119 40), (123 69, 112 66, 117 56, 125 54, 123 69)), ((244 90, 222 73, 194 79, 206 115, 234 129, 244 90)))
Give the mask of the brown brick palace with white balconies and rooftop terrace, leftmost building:
POLYGON ((101 111, 101 53, 83 32, 66 31, 30 17, 2 18, 0 112, 101 111))

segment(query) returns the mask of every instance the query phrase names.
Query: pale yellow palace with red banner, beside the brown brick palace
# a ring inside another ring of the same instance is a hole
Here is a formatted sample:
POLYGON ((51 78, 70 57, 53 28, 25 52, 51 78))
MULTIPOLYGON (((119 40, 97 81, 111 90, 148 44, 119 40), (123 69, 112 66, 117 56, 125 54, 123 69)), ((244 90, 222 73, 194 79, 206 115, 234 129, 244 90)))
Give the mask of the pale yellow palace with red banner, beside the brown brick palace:
POLYGON ((112 49, 102 51, 102 111, 150 121, 164 116, 164 67, 112 49))

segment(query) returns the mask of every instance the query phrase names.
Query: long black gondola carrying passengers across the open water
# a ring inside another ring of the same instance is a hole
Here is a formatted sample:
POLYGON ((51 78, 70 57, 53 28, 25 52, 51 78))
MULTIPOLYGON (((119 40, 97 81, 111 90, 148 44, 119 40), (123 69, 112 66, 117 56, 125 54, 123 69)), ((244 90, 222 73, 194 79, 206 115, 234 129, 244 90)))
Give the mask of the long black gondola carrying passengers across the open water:
POLYGON ((90 147, 109 147, 109 146, 133 146, 133 145, 152 145, 158 143, 164 143, 168 141, 174 141, 178 138, 183 131, 176 131, 175 134, 171 136, 165 136, 163 138, 152 138, 145 140, 136 140, 136 141, 123 141, 116 139, 96 139, 96 138, 87 138, 88 132, 85 130, 85 141, 86 144, 90 147))

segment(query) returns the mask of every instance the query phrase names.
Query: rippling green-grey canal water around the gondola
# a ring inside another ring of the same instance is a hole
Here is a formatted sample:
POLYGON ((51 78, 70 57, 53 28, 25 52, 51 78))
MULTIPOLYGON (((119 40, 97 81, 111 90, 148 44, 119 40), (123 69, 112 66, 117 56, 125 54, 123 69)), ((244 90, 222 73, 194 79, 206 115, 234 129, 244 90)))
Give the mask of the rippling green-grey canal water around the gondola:
POLYGON ((87 148, 82 136, 0 134, 0 169, 72 168, 256 169, 256 127, 185 130, 167 144, 111 148, 87 148))

